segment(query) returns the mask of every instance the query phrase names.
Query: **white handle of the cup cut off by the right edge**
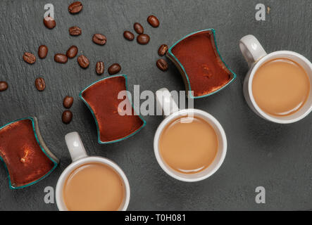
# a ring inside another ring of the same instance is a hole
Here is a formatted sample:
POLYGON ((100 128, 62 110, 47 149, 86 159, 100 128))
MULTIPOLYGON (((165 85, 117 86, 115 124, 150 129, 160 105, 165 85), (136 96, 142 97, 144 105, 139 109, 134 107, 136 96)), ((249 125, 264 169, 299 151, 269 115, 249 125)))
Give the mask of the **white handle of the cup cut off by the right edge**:
POLYGON ((254 35, 247 35, 242 37, 239 41, 239 49, 242 51, 242 54, 247 61, 249 68, 261 59, 263 56, 266 56, 266 51, 264 51, 263 47, 261 46, 260 42, 254 35))

